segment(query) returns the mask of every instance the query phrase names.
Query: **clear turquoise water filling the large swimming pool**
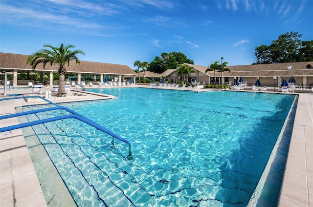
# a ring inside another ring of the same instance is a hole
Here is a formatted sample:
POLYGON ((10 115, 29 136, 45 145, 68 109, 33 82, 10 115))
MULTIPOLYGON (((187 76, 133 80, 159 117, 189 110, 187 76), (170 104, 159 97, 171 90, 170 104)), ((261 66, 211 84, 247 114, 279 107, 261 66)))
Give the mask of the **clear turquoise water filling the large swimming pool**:
POLYGON ((88 90, 118 99, 63 105, 131 142, 133 160, 126 158, 128 145, 114 140, 112 147, 111 136, 77 120, 33 127, 81 207, 246 206, 295 98, 232 91, 88 90))

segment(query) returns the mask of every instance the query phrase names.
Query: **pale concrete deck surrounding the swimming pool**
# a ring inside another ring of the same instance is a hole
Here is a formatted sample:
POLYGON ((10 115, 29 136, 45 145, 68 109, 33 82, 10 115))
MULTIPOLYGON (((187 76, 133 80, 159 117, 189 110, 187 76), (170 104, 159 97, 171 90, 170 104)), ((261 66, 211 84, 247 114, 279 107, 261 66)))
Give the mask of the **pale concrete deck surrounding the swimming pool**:
MULTIPOLYGON (((10 90, 7 94, 14 92, 23 94, 29 93, 29 90, 10 90)), ((79 101, 106 98, 89 93, 86 99, 80 98, 79 101)), ((14 114, 16 107, 30 104, 35 103, 26 103, 24 99, 1 101, 0 115, 14 114)), ((0 120, 0 127, 15 124, 19 124, 18 118, 0 120)), ((278 206, 313 206, 312 175, 313 94, 300 93, 278 206)), ((0 206, 44 207, 47 203, 22 129, 0 133, 0 206)))

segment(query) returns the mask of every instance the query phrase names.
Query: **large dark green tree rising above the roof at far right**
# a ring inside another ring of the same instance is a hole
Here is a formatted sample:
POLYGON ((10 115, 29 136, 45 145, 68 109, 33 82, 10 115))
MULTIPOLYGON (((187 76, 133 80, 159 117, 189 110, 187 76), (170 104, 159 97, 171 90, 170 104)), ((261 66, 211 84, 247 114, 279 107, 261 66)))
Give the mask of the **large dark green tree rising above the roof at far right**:
POLYGON ((256 62, 253 64, 304 62, 312 60, 312 41, 301 41, 302 34, 287 32, 269 46, 260 45, 254 49, 256 62))

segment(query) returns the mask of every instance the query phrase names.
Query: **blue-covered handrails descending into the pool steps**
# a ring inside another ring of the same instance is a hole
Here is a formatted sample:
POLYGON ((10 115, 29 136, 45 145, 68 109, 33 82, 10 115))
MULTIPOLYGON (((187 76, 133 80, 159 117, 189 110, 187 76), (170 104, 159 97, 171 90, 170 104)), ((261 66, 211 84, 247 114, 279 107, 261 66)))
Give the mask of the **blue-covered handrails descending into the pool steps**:
POLYGON ((112 131, 110 131, 109 129, 101 126, 100 124, 97 124, 91 120, 89 120, 87 117, 84 117, 83 115, 67 108, 67 107, 64 107, 64 106, 60 106, 58 104, 55 104, 41 96, 23 96, 23 97, 10 97, 10 98, 3 98, 3 99, 0 99, 0 101, 4 101, 4 100, 12 100, 12 99, 26 99, 26 98, 40 98, 40 99, 43 99, 45 100, 46 102, 50 103, 50 104, 53 104, 55 105, 55 107, 49 107, 49 108, 43 108, 43 109, 38 109, 38 110, 33 110, 33 111, 25 111, 25 112, 21 112, 21 113, 16 113, 16 114, 9 114, 9 115, 4 115, 4 116, 0 116, 0 120, 3 120, 3 119, 8 119, 8 118, 13 118, 13 117, 19 117, 19 116, 26 116, 26 115, 29 115, 29 114, 35 114, 35 113, 40 113, 40 112, 45 112, 45 111, 52 111, 52 110, 66 110, 67 112, 71 113, 71 114, 68 114, 68 115, 63 115, 63 116, 58 116, 58 117, 52 117, 52 118, 48 118, 48 119, 43 119, 43 120, 37 120, 37 121, 32 121, 32 122, 27 122, 27 123, 22 123, 22 124, 16 124, 16 125, 11 125, 11 126, 5 126, 5 127, 1 127, 0 128, 0 132, 5 132, 5 131, 10 131, 10 130, 14 130, 14 129, 19 129, 19 128, 24 128, 24 127, 27 127, 27 126, 33 126, 33 125, 37 125, 37 124, 44 124, 44 123, 47 123, 47 122, 54 122, 54 121, 57 121, 57 120, 62 120, 62 119, 77 119, 77 120, 80 120, 86 124, 89 124, 93 127, 95 127, 96 129, 98 130, 101 130, 103 131, 104 133, 106 134, 109 134, 112 136, 112 145, 113 145, 113 148, 114 148, 114 138, 124 142, 125 144, 128 145, 128 156, 127 156, 127 159, 128 160, 133 160, 133 153, 131 151, 131 143, 128 142, 127 140, 123 139, 122 137, 114 134, 112 131))

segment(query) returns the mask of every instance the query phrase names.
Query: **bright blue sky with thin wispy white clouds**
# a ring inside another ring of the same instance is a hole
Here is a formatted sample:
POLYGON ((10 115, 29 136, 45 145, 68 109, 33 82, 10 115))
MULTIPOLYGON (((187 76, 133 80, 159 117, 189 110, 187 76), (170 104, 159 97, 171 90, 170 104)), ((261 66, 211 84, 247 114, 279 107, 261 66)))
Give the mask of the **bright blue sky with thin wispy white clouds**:
POLYGON ((30 55, 73 44, 82 61, 151 62, 182 52, 197 65, 256 62, 286 32, 313 40, 312 0, 1 0, 0 51, 30 55))

